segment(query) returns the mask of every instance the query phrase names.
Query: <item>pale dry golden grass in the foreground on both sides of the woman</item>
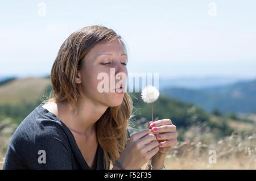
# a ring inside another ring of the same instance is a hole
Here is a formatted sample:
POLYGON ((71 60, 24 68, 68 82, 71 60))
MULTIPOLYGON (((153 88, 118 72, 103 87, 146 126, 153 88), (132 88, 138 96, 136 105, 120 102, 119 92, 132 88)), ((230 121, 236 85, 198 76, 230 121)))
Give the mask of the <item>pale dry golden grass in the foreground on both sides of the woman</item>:
MULTIPOLYGON (((10 120, 2 120, 0 127, 1 124, 9 125, 10 120)), ((3 162, 14 129, 15 125, 0 130, 0 162, 3 162)), ((214 140, 212 132, 207 129, 203 131, 197 125, 184 133, 184 140, 177 142, 168 153, 167 169, 256 169, 254 126, 249 131, 246 126, 243 131, 237 129, 228 137, 214 140), (209 163, 209 157, 212 156, 209 150, 216 150, 216 163, 209 163)), ((0 163, 0 169, 2 166, 3 163, 0 163)))

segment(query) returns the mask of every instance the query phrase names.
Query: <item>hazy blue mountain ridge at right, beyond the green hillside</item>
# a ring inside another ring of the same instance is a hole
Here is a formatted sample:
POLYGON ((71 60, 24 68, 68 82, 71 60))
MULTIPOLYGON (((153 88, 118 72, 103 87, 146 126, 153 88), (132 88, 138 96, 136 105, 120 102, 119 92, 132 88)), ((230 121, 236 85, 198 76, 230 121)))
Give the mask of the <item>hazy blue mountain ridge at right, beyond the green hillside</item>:
POLYGON ((224 113, 256 111, 256 79, 197 90, 171 88, 163 90, 162 94, 197 104, 206 111, 212 111, 214 108, 224 113))

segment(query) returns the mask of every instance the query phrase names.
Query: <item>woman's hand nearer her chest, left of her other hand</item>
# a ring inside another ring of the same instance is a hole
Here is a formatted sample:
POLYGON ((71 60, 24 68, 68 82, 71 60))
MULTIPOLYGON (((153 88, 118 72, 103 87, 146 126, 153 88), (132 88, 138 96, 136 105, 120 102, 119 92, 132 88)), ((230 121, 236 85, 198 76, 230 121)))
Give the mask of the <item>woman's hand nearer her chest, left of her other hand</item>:
POLYGON ((159 142, 151 129, 135 133, 127 142, 118 161, 124 169, 141 169, 159 151, 159 142))

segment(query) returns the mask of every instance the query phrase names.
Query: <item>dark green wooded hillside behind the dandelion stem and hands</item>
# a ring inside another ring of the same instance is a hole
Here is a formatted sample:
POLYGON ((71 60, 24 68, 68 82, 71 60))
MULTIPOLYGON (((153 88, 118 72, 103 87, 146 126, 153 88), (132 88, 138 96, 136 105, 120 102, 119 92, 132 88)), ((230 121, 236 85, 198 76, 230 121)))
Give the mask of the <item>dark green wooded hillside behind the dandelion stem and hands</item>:
MULTIPOLYGON (((141 99, 141 93, 129 93, 133 99, 133 119, 132 123, 139 125, 144 129, 148 128, 148 123, 151 121, 151 104, 144 103, 141 99)), ((183 138, 183 130, 187 130, 189 127, 201 125, 203 129, 209 129, 211 133, 216 137, 230 135, 234 129, 229 127, 230 119, 226 115, 212 116, 212 113, 207 113, 200 106, 195 104, 185 103, 181 100, 168 98, 165 95, 161 95, 153 103, 154 120, 171 119, 172 123, 179 128, 179 139, 183 138)), ((237 119, 237 125, 245 121, 237 119)), ((245 123, 252 125, 250 121, 245 123)), ((236 128, 235 128, 236 129, 236 128)))

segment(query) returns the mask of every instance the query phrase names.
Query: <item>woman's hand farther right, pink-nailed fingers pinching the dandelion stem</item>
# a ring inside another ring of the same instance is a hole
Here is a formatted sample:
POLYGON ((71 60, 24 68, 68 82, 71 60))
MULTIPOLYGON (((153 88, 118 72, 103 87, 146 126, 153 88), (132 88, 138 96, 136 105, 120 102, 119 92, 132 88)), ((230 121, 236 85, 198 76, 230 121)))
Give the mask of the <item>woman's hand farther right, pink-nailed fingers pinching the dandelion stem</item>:
POLYGON ((170 119, 150 121, 150 128, 159 141, 158 153, 167 154, 177 144, 176 126, 170 119))

